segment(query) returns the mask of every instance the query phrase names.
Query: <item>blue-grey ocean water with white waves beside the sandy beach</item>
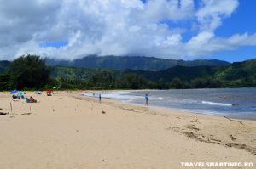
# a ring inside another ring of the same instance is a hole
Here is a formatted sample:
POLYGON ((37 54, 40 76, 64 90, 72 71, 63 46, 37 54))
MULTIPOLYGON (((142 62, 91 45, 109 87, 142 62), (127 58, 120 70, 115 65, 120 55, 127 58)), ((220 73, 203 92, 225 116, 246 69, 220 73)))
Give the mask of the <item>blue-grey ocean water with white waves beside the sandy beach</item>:
MULTIPOLYGON (((149 106, 256 121, 256 88, 125 91, 102 93, 102 99, 143 105, 146 93, 149 106)), ((85 95, 92 96, 91 93, 85 95)))

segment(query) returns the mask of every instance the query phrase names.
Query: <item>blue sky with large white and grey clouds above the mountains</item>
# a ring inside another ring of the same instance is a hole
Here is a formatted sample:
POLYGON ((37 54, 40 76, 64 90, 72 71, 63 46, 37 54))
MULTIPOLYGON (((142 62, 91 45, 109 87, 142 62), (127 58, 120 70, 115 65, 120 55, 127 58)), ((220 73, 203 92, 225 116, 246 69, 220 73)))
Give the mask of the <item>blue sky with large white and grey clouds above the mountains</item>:
POLYGON ((0 0, 0 59, 256 58, 256 1, 0 0))

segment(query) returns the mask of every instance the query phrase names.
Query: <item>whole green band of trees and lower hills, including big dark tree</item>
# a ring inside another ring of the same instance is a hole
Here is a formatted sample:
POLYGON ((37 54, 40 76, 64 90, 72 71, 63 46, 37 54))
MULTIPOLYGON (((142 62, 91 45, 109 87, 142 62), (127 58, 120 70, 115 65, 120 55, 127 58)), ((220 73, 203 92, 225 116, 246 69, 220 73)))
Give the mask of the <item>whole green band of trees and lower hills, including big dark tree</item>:
POLYGON ((256 87, 256 60, 227 66, 177 66, 161 71, 82 69, 45 65, 36 55, 15 59, 0 74, 0 90, 171 89, 256 87))

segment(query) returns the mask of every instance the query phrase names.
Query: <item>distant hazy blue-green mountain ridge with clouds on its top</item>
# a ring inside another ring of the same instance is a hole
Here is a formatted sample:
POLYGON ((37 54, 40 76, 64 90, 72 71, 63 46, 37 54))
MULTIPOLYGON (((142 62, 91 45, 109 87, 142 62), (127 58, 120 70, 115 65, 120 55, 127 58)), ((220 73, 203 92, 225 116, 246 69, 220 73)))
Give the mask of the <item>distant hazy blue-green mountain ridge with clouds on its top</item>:
POLYGON ((96 56, 90 55, 82 59, 74 59, 73 61, 46 59, 47 65, 61 65, 77 68, 88 69, 113 69, 113 70, 166 70, 177 65, 181 66, 199 66, 199 65, 230 65, 229 62, 218 59, 195 59, 195 60, 176 60, 176 59, 160 59, 154 57, 143 56, 96 56))

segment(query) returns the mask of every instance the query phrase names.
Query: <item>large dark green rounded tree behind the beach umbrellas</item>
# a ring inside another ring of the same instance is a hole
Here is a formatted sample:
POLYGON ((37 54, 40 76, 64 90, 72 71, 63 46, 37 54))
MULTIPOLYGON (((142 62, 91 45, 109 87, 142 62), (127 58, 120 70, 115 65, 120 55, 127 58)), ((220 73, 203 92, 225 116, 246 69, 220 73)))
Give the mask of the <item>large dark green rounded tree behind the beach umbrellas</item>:
POLYGON ((18 89, 42 88, 48 82, 49 74, 44 59, 36 55, 21 56, 9 66, 9 75, 18 89))

